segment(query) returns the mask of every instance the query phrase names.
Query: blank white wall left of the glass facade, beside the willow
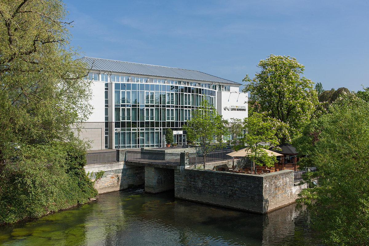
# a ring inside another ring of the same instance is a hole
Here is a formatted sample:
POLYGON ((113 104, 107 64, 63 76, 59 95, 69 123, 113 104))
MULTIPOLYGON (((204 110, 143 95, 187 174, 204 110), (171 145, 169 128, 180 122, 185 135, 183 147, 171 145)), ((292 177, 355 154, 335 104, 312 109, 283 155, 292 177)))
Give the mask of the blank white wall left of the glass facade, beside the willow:
POLYGON ((105 122, 105 82, 93 81, 91 90, 90 104, 94 109, 86 122, 105 122))

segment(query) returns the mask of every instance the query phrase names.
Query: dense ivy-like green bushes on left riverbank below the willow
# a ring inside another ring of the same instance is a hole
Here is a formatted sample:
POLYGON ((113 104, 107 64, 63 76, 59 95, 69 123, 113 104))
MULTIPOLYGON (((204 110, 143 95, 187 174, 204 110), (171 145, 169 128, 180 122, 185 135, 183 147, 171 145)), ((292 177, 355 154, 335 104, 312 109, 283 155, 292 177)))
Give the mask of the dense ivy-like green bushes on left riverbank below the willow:
POLYGON ((21 145, 0 179, 0 224, 82 204, 97 195, 83 166, 86 152, 67 143, 21 145))

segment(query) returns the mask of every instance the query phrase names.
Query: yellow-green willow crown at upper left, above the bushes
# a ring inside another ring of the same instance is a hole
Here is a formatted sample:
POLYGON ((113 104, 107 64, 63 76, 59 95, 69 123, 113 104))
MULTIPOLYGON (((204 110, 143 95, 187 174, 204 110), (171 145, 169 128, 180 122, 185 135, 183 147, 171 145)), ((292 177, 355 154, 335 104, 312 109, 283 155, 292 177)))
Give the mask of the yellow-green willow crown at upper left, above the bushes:
POLYGON ((91 93, 61 1, 3 1, 0 14, 1 172, 8 142, 73 138, 70 124, 89 115, 91 93))

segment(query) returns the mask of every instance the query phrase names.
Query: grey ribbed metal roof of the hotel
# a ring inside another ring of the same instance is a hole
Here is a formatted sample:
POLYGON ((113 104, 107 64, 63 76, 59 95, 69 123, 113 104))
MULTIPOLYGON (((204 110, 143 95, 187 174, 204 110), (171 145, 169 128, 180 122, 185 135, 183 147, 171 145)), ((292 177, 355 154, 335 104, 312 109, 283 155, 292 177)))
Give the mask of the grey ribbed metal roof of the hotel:
POLYGON ((207 73, 199 72, 196 70, 148 65, 135 62, 122 62, 118 60, 108 60, 92 57, 83 57, 82 59, 85 60, 85 62, 93 64, 93 70, 129 73, 142 76, 157 76, 180 80, 197 80, 204 82, 219 82, 225 84, 241 85, 240 83, 233 82, 227 79, 222 79, 220 77, 209 75, 207 73))

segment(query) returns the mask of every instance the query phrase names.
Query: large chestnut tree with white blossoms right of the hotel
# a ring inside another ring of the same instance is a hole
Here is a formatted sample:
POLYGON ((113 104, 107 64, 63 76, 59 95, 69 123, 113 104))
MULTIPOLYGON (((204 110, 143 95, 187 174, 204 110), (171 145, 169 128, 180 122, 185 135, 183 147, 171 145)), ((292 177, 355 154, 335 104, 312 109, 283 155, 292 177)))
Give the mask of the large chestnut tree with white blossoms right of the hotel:
MULTIPOLYGON (((299 135, 319 104, 313 82, 300 77, 304 66, 290 56, 270 55, 258 67, 261 72, 254 79, 248 75, 243 79, 248 82, 242 91, 249 91, 249 103, 255 112, 288 124, 290 136, 299 135)), ((287 136, 281 137, 281 143, 289 141, 287 136)))

